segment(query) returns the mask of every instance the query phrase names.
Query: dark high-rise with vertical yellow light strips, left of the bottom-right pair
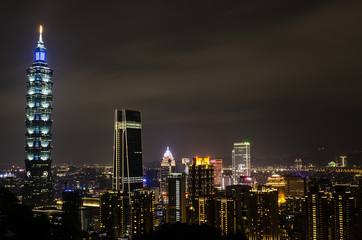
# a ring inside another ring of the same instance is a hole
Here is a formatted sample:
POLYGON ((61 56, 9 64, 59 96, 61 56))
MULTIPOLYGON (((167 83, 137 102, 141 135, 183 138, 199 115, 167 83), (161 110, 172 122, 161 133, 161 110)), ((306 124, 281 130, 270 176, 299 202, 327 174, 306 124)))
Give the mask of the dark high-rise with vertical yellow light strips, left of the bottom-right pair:
POLYGON ((330 193, 320 190, 320 188, 328 188, 325 181, 320 184, 313 182, 309 186, 309 192, 306 196, 306 224, 307 238, 312 240, 330 239, 330 193))

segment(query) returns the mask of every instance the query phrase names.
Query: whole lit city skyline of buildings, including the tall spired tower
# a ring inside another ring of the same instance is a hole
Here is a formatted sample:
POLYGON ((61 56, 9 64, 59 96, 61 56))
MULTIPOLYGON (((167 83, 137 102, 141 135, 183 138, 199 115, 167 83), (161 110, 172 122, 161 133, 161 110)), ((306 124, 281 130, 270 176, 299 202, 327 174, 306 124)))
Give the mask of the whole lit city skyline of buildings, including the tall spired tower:
MULTIPOLYGON (((144 169, 139 111, 115 110, 113 167, 77 170, 73 176, 69 168, 55 172, 53 71, 46 54, 41 29, 27 70, 26 160, 25 171, 17 173, 24 178, 19 198, 34 214, 46 215, 55 230, 67 229, 69 239, 82 231, 104 239, 132 238, 165 223, 208 225, 225 236, 252 240, 362 239, 358 171, 348 173, 353 175, 348 180, 303 176, 307 170, 298 159, 293 171, 268 170, 265 181, 259 180, 261 175, 251 168, 249 142, 234 143, 231 167, 220 158, 191 157, 179 159, 177 169, 167 147, 159 167, 144 169)), ((340 169, 346 165, 343 156, 340 169)), ((0 183, 19 196, 14 179, 13 173, 2 175, 0 183)))

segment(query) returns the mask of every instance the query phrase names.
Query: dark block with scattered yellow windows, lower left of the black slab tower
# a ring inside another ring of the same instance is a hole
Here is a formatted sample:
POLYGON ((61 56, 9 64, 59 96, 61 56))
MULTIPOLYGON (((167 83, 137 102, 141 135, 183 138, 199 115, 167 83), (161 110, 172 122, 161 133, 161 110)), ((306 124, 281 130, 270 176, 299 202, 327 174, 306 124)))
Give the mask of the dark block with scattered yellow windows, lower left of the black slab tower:
POLYGON ((120 191, 107 191, 100 196, 100 231, 111 239, 125 236, 123 198, 120 191))

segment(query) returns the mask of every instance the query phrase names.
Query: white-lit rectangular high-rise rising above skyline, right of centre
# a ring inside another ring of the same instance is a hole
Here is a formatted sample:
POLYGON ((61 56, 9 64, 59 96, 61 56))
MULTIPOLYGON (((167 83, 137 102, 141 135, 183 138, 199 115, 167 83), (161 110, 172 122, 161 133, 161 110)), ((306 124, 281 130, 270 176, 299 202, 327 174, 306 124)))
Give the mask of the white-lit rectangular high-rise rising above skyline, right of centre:
POLYGON ((232 165, 234 183, 238 182, 240 176, 250 176, 250 143, 234 143, 232 151, 232 165))

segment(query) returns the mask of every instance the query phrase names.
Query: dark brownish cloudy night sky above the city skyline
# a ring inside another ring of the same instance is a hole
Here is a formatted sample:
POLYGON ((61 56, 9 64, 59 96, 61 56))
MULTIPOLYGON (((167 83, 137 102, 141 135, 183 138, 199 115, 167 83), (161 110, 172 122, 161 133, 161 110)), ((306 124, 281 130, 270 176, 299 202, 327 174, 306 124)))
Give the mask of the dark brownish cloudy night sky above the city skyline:
POLYGON ((141 110, 144 161, 362 150, 362 1, 7 1, 0 163, 25 159, 38 26, 54 69, 53 164, 112 163, 114 109, 141 110))

